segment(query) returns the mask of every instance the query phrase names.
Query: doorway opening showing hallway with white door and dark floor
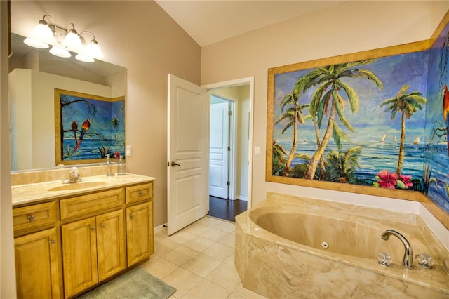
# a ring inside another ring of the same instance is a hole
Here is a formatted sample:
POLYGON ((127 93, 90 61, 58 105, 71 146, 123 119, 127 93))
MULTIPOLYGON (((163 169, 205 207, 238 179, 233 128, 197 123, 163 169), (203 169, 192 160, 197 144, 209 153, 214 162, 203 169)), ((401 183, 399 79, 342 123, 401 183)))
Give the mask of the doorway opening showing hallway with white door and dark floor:
POLYGON ((251 86, 247 83, 208 89, 208 215, 233 222, 249 206, 251 86))

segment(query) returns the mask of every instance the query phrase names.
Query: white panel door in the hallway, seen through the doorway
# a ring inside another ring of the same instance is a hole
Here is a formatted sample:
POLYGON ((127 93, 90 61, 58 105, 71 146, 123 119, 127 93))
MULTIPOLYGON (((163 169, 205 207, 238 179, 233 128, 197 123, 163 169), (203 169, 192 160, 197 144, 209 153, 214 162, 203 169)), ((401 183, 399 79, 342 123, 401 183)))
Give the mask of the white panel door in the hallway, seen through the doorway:
POLYGON ((209 195, 228 198, 229 103, 210 105, 209 195))

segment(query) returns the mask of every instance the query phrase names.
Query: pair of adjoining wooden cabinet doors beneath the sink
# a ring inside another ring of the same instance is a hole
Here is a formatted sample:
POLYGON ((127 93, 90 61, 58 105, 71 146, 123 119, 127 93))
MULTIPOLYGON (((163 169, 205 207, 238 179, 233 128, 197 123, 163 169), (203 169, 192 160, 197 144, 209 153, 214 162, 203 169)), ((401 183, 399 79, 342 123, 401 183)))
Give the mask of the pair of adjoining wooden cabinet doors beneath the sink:
POLYGON ((66 297, 126 268, 123 210, 62 225, 66 297))

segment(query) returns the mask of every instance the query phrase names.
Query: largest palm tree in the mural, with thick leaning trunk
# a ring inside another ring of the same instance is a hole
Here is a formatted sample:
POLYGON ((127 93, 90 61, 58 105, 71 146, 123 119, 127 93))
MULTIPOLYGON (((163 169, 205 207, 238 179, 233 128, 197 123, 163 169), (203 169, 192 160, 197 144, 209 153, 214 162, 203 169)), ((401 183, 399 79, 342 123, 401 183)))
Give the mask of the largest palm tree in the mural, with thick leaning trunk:
POLYGON ((347 135, 342 131, 336 122, 336 117, 340 122, 350 131, 354 131, 347 118, 344 116, 345 99, 340 95, 340 91, 344 91, 351 112, 358 113, 358 96, 351 86, 345 84, 342 79, 344 77, 364 78, 373 81, 377 87, 383 88, 382 82, 376 77, 373 72, 367 69, 360 69, 360 65, 368 65, 375 62, 375 60, 361 60, 356 62, 347 62, 339 65, 328 65, 326 67, 318 67, 300 78, 293 88, 295 93, 304 93, 313 86, 318 86, 314 91, 310 102, 310 114, 318 127, 321 128, 323 117, 328 117, 328 124, 326 131, 319 142, 319 145, 311 157, 311 161, 304 173, 305 179, 313 179, 316 167, 319 164, 321 157, 328 145, 330 137, 332 136, 338 146, 341 144, 341 139, 347 140, 347 135))

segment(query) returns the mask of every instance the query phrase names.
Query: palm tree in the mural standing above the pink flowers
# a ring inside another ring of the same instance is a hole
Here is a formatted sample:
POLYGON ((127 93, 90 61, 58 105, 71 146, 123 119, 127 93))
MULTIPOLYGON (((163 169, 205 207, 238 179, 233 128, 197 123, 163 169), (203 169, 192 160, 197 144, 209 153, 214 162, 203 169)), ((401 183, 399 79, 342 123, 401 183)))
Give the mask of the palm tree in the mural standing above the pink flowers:
POLYGON ((406 141, 406 119, 410 119, 417 109, 422 110, 421 105, 426 105, 426 98, 422 96, 419 91, 413 91, 407 93, 410 85, 402 86, 401 90, 398 92, 396 97, 384 100, 380 107, 387 106, 385 112, 391 111, 391 120, 396 117, 398 112, 401 112, 401 140, 399 143, 399 157, 398 157, 398 168, 396 173, 401 175, 402 164, 404 159, 404 143, 406 141))

